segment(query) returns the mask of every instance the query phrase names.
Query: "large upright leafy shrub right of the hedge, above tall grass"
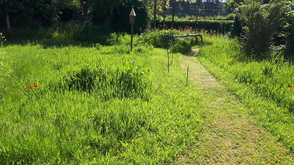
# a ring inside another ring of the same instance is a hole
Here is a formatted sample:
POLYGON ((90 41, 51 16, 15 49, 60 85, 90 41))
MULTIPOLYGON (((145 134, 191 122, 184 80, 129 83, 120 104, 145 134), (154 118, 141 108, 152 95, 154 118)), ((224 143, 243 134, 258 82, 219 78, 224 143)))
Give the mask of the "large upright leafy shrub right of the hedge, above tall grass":
POLYGON ((243 49, 247 54, 264 54, 269 51, 273 35, 281 22, 281 3, 262 4, 251 1, 235 11, 240 19, 243 49))

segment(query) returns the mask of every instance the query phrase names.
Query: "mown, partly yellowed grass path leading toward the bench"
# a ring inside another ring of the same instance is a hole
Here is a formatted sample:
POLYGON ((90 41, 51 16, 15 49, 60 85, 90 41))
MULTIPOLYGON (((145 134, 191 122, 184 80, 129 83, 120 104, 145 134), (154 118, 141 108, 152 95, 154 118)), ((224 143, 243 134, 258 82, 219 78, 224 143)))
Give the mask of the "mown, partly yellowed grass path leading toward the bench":
POLYGON ((258 127, 249 110, 200 64, 197 52, 179 61, 185 70, 189 64, 189 83, 202 98, 205 120, 199 138, 174 164, 294 164, 292 152, 258 127))

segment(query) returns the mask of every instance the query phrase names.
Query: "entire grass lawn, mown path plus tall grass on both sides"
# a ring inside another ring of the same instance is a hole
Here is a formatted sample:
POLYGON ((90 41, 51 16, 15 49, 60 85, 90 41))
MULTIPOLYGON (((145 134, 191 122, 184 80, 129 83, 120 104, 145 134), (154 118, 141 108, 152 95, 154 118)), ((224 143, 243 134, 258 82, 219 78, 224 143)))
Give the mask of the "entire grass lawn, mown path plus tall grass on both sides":
POLYGON ((201 33, 198 57, 174 53, 170 73, 166 50, 135 37, 130 52, 129 35, 0 47, 1 163, 291 164, 294 65, 201 33))

